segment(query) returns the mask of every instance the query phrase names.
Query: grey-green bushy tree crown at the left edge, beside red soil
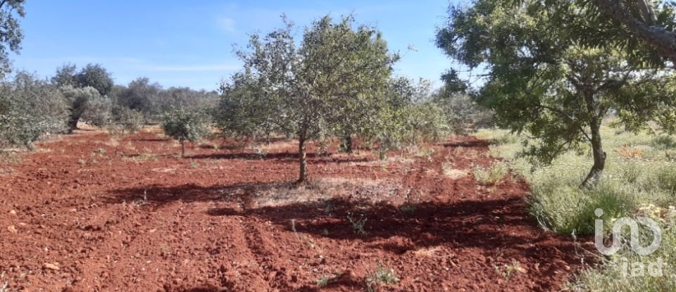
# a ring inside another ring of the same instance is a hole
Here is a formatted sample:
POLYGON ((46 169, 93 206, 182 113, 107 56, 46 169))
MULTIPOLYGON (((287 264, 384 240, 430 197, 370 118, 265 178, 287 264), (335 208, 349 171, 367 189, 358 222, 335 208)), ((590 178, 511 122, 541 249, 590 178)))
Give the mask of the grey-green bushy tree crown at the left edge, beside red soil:
POLYGON ((68 106, 61 91, 26 72, 0 84, 0 146, 25 146, 65 129, 68 106))

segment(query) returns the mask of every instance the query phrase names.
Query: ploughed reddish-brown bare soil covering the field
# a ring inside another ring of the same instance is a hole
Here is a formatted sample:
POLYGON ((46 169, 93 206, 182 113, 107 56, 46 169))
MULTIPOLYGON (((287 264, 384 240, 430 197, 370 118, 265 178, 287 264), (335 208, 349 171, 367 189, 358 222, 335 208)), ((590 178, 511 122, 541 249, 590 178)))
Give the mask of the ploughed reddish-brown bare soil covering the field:
POLYGON ((297 172, 294 144, 275 145, 264 157, 191 146, 178 158, 177 144, 156 132, 115 143, 80 131, 21 154, 0 167, 12 170, 0 172, 0 287, 364 291, 380 261, 400 281, 377 291, 553 291, 581 267, 570 239, 527 215, 524 182, 444 175, 442 163, 491 163, 485 141, 457 137, 387 166, 364 152, 308 155, 311 179, 377 179, 394 195, 261 205, 256 190, 297 172), (367 234, 353 231, 347 212, 368 218, 367 234), (515 261, 522 269, 506 279, 515 261))

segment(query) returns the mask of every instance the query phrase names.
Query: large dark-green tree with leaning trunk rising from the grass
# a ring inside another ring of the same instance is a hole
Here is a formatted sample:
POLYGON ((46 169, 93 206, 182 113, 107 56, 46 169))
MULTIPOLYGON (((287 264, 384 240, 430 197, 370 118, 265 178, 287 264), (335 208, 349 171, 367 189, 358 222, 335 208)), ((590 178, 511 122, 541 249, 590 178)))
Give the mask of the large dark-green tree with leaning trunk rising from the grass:
POLYGON ((634 63, 612 43, 580 46, 577 35, 598 28, 583 18, 562 23, 539 5, 477 0, 451 8, 437 45, 469 68, 485 65, 480 101, 495 110, 503 127, 532 135, 535 143, 526 155, 551 163, 564 151, 591 148, 594 164, 581 186, 593 186, 606 165, 603 118, 613 108, 641 114, 632 103, 657 102, 645 84, 671 73, 634 63))

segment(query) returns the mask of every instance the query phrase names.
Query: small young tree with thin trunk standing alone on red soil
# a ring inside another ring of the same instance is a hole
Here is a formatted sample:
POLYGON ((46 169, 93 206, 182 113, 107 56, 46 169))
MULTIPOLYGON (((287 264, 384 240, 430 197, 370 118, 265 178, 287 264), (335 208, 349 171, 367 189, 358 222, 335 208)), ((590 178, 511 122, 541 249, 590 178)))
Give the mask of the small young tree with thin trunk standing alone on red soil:
POLYGON ((189 113, 183 109, 165 113, 161 125, 168 137, 181 144, 181 157, 185 156, 185 141, 197 141, 209 134, 206 115, 189 113))

